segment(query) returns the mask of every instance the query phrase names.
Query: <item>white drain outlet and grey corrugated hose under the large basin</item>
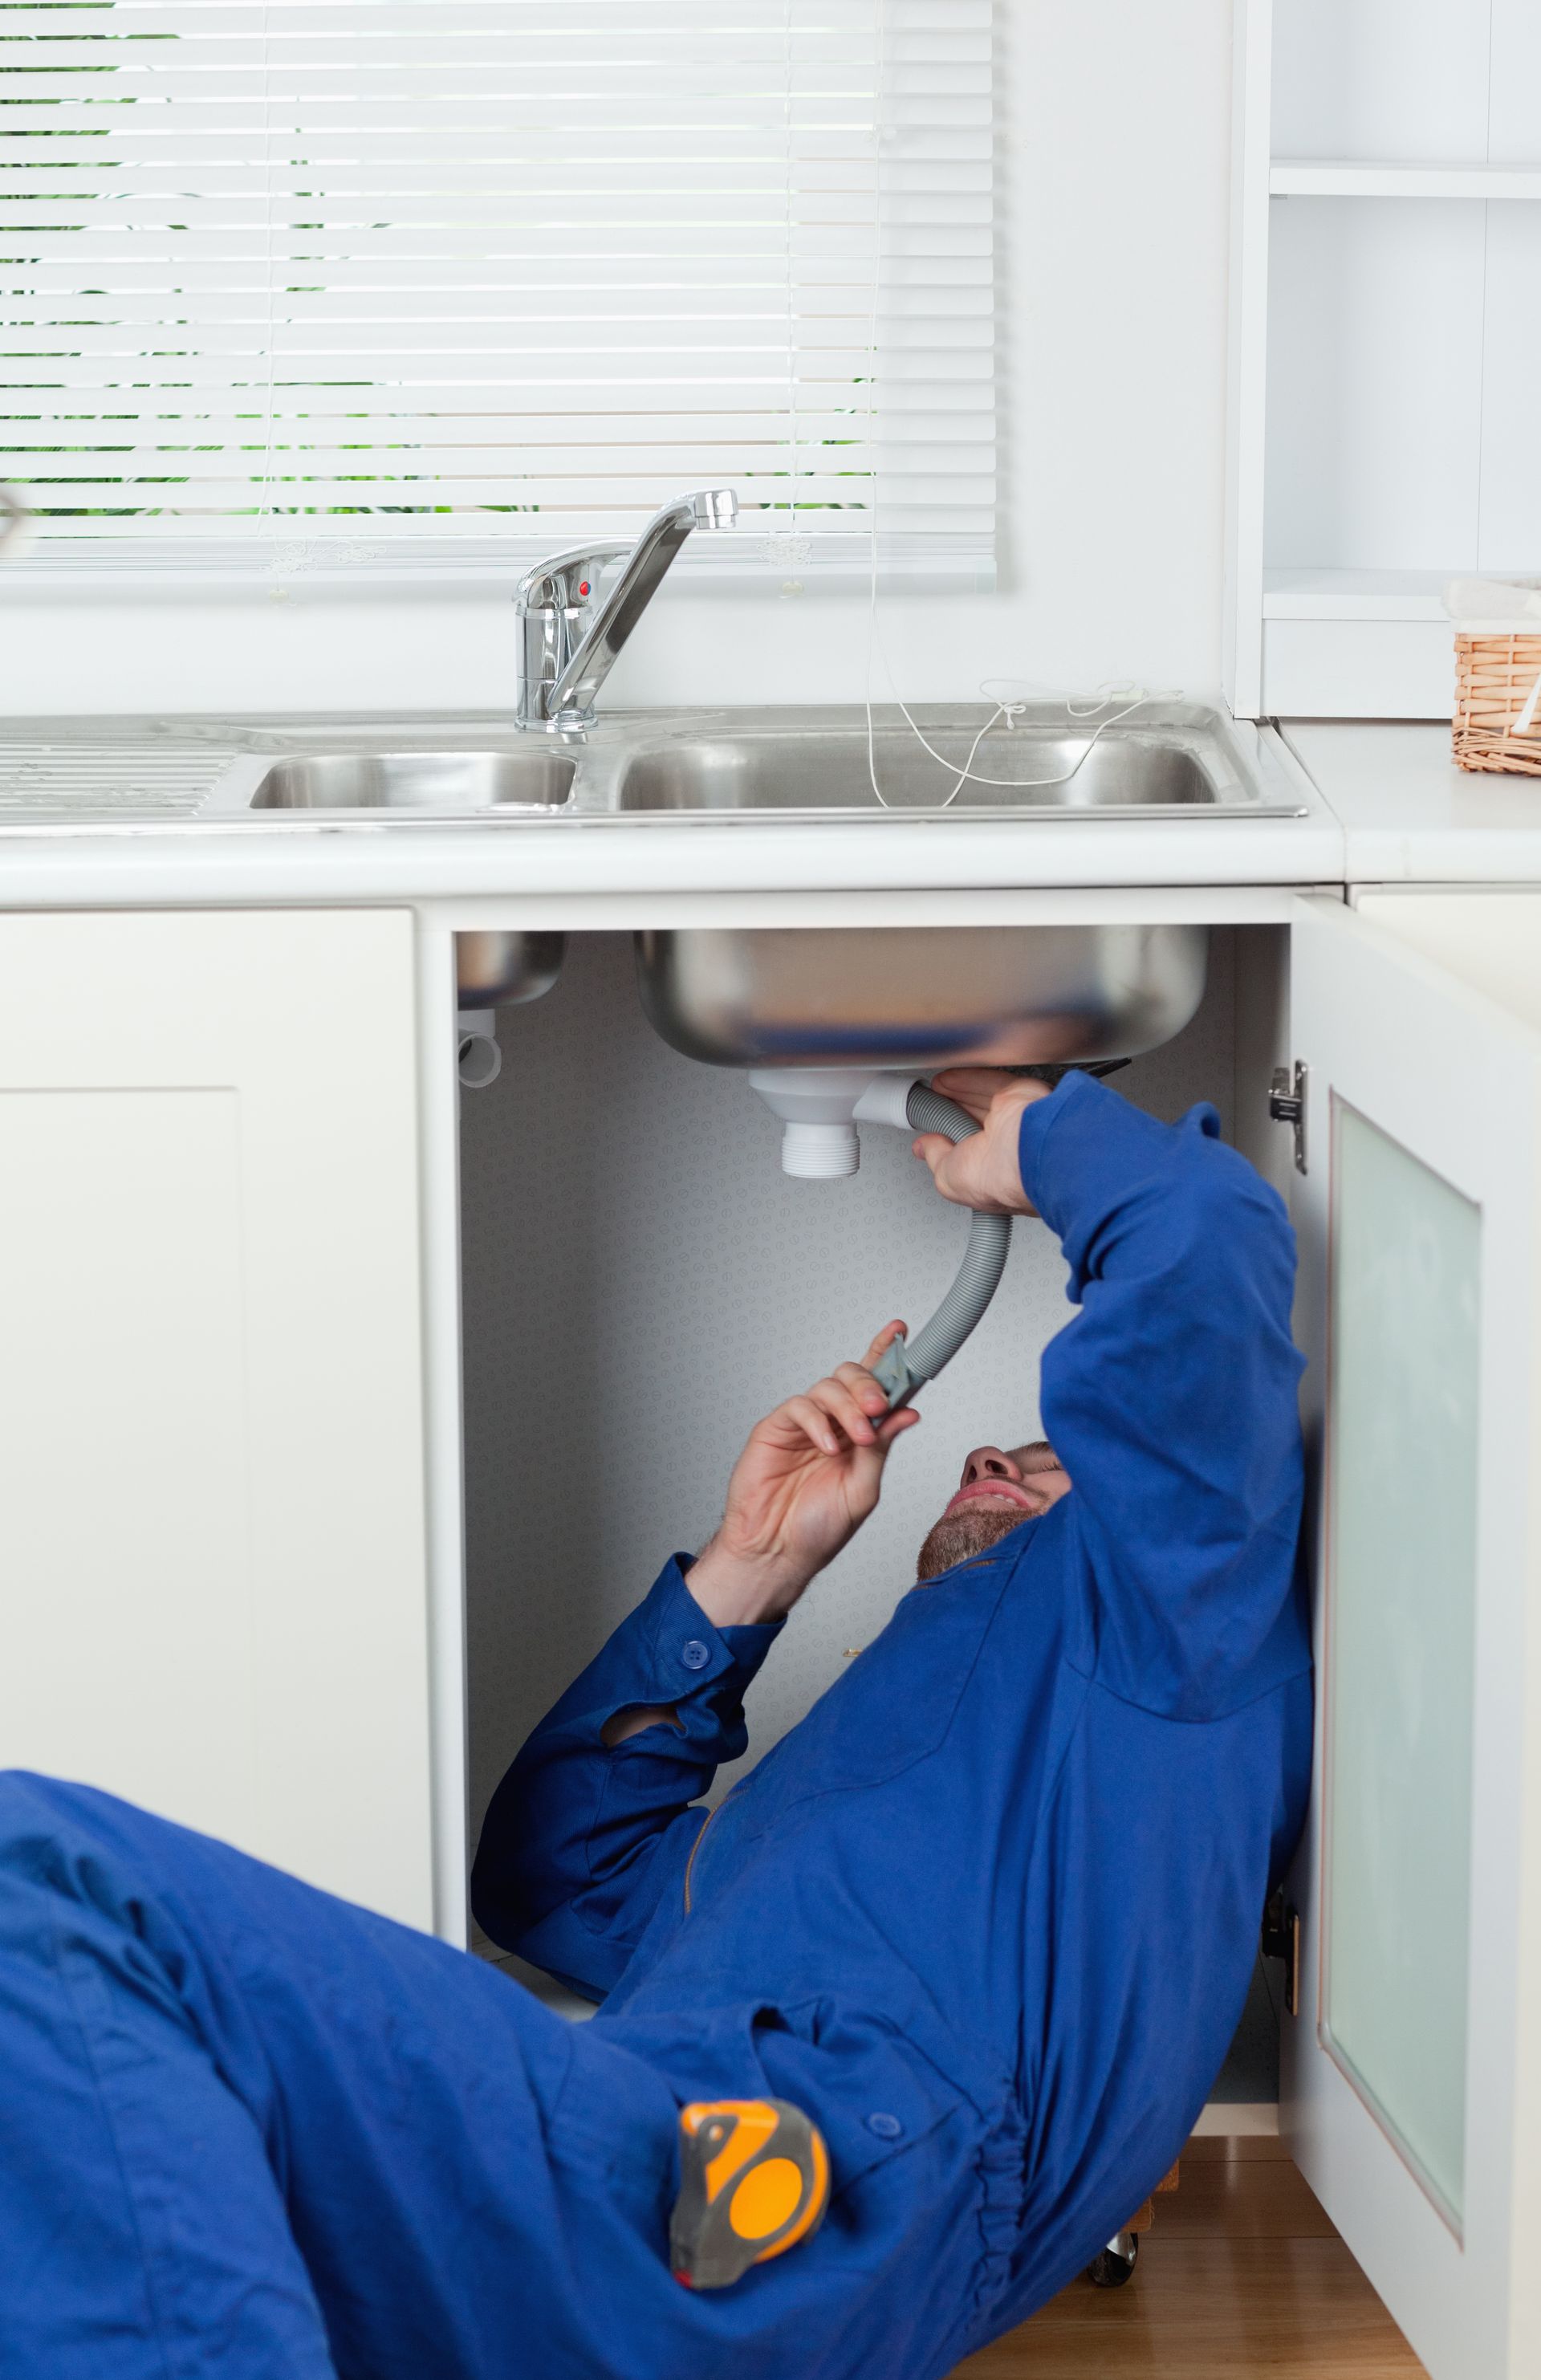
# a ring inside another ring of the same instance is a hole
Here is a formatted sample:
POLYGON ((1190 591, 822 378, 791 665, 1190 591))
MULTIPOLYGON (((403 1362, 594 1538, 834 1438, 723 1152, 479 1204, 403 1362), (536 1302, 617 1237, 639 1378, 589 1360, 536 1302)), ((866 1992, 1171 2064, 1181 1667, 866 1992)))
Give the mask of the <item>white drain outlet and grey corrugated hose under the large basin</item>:
MULTIPOLYGON (((901 1133, 946 1133, 968 1140, 980 1126, 954 1100, 908 1073, 868 1073, 856 1066, 759 1066, 749 1088, 782 1119, 782 1173, 799 1180, 839 1180, 861 1164, 858 1123, 889 1123, 901 1133)), ((894 1340, 873 1366, 889 1411, 935 1380, 980 1323, 1001 1285, 1011 1254, 1011 1216, 968 1221, 963 1264, 946 1297, 913 1340, 894 1340)))

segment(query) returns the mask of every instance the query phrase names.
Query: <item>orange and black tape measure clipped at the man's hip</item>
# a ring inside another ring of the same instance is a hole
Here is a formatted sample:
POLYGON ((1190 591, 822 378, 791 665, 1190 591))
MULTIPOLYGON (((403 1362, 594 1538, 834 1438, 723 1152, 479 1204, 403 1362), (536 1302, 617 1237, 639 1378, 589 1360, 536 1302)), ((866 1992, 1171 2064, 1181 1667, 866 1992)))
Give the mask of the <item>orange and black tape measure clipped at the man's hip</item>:
POLYGON ((725 2290, 809 2240, 830 2204, 823 2132, 787 2099, 697 2099, 680 2111, 680 2194, 668 2266, 687 2290, 725 2290))

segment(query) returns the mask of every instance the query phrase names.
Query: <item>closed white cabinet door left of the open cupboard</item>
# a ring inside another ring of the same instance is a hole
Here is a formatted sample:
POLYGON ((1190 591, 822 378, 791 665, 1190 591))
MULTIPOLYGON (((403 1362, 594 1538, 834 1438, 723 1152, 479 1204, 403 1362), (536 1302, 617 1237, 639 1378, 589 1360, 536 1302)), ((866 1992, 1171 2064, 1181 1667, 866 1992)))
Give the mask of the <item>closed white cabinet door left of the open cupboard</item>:
POLYGON ((430 1923, 407 912, 0 916, 0 1764, 430 1923))

